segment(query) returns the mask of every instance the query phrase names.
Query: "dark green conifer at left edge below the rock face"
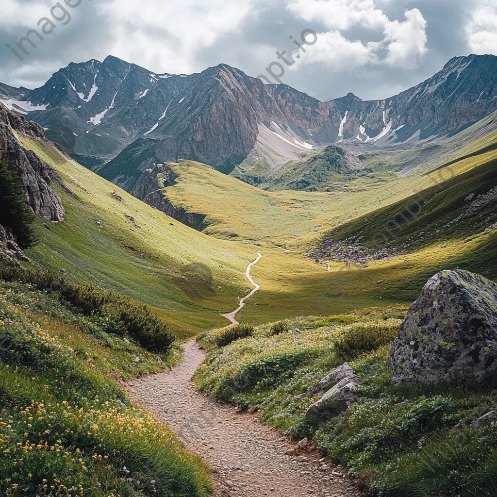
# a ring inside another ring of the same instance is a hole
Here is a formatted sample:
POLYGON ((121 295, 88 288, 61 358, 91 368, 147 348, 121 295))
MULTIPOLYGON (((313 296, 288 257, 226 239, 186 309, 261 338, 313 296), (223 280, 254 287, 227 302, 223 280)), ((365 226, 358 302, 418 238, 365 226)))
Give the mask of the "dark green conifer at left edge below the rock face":
POLYGON ((21 179, 5 162, 0 161, 0 225, 12 232, 22 249, 37 242, 31 227, 34 218, 26 204, 26 192, 21 179))

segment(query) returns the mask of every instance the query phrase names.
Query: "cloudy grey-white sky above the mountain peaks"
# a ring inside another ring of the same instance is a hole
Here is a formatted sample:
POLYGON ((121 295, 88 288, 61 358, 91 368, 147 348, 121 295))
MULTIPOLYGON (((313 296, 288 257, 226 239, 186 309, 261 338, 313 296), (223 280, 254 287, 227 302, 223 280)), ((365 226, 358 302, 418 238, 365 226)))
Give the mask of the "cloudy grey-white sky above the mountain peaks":
POLYGON ((322 100, 349 91, 377 99, 425 80, 454 56, 497 55, 497 0, 65 1, 73 7, 59 5, 70 20, 53 9, 55 0, 2 0, 0 82, 34 88, 70 62, 107 55, 158 74, 226 63, 258 76, 286 51, 295 63, 281 61, 283 83, 322 100), (38 27, 43 17, 53 25, 38 27), (32 35, 37 48, 23 62, 6 47, 43 27, 52 32, 43 41, 32 35), (317 41, 299 52, 294 41, 305 29, 317 41))

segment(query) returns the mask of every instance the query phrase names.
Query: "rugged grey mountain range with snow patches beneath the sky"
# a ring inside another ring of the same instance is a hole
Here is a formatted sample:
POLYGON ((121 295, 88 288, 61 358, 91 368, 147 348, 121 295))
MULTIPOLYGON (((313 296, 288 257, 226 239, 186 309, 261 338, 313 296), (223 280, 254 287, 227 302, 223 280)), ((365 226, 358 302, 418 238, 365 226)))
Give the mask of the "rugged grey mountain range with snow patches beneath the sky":
POLYGON ((0 102, 132 191, 143 171, 178 159, 269 175, 332 144, 363 152, 453 136, 497 110, 497 57, 455 57, 384 100, 321 102, 225 64, 159 75, 109 56, 71 63, 33 90, 0 83, 0 102))

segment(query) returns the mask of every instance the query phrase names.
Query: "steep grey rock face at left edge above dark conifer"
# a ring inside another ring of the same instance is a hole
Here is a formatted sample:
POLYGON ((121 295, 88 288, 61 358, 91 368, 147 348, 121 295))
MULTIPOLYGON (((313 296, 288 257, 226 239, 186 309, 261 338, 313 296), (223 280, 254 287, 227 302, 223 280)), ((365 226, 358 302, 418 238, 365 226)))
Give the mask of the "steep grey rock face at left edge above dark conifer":
POLYGON ((45 139, 43 129, 26 121, 0 105, 0 159, 14 167, 26 190, 26 201, 36 214, 50 221, 64 220, 64 207, 60 197, 51 188, 55 171, 40 161, 30 150, 22 148, 13 130, 45 139))

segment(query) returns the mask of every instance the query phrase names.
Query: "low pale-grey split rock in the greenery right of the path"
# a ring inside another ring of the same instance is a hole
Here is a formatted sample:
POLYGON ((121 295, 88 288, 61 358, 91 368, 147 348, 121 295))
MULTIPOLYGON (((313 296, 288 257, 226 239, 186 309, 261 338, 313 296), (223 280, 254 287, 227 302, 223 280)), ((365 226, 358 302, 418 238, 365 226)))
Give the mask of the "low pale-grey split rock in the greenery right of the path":
POLYGON ((322 409, 333 413, 341 413, 359 400, 359 397, 354 393, 354 390, 361 385, 362 380, 354 374, 348 363, 345 362, 339 368, 331 371, 329 375, 325 376, 305 394, 302 394, 295 399, 315 397, 316 395, 326 392, 321 399, 309 407, 306 416, 314 414, 322 409))

